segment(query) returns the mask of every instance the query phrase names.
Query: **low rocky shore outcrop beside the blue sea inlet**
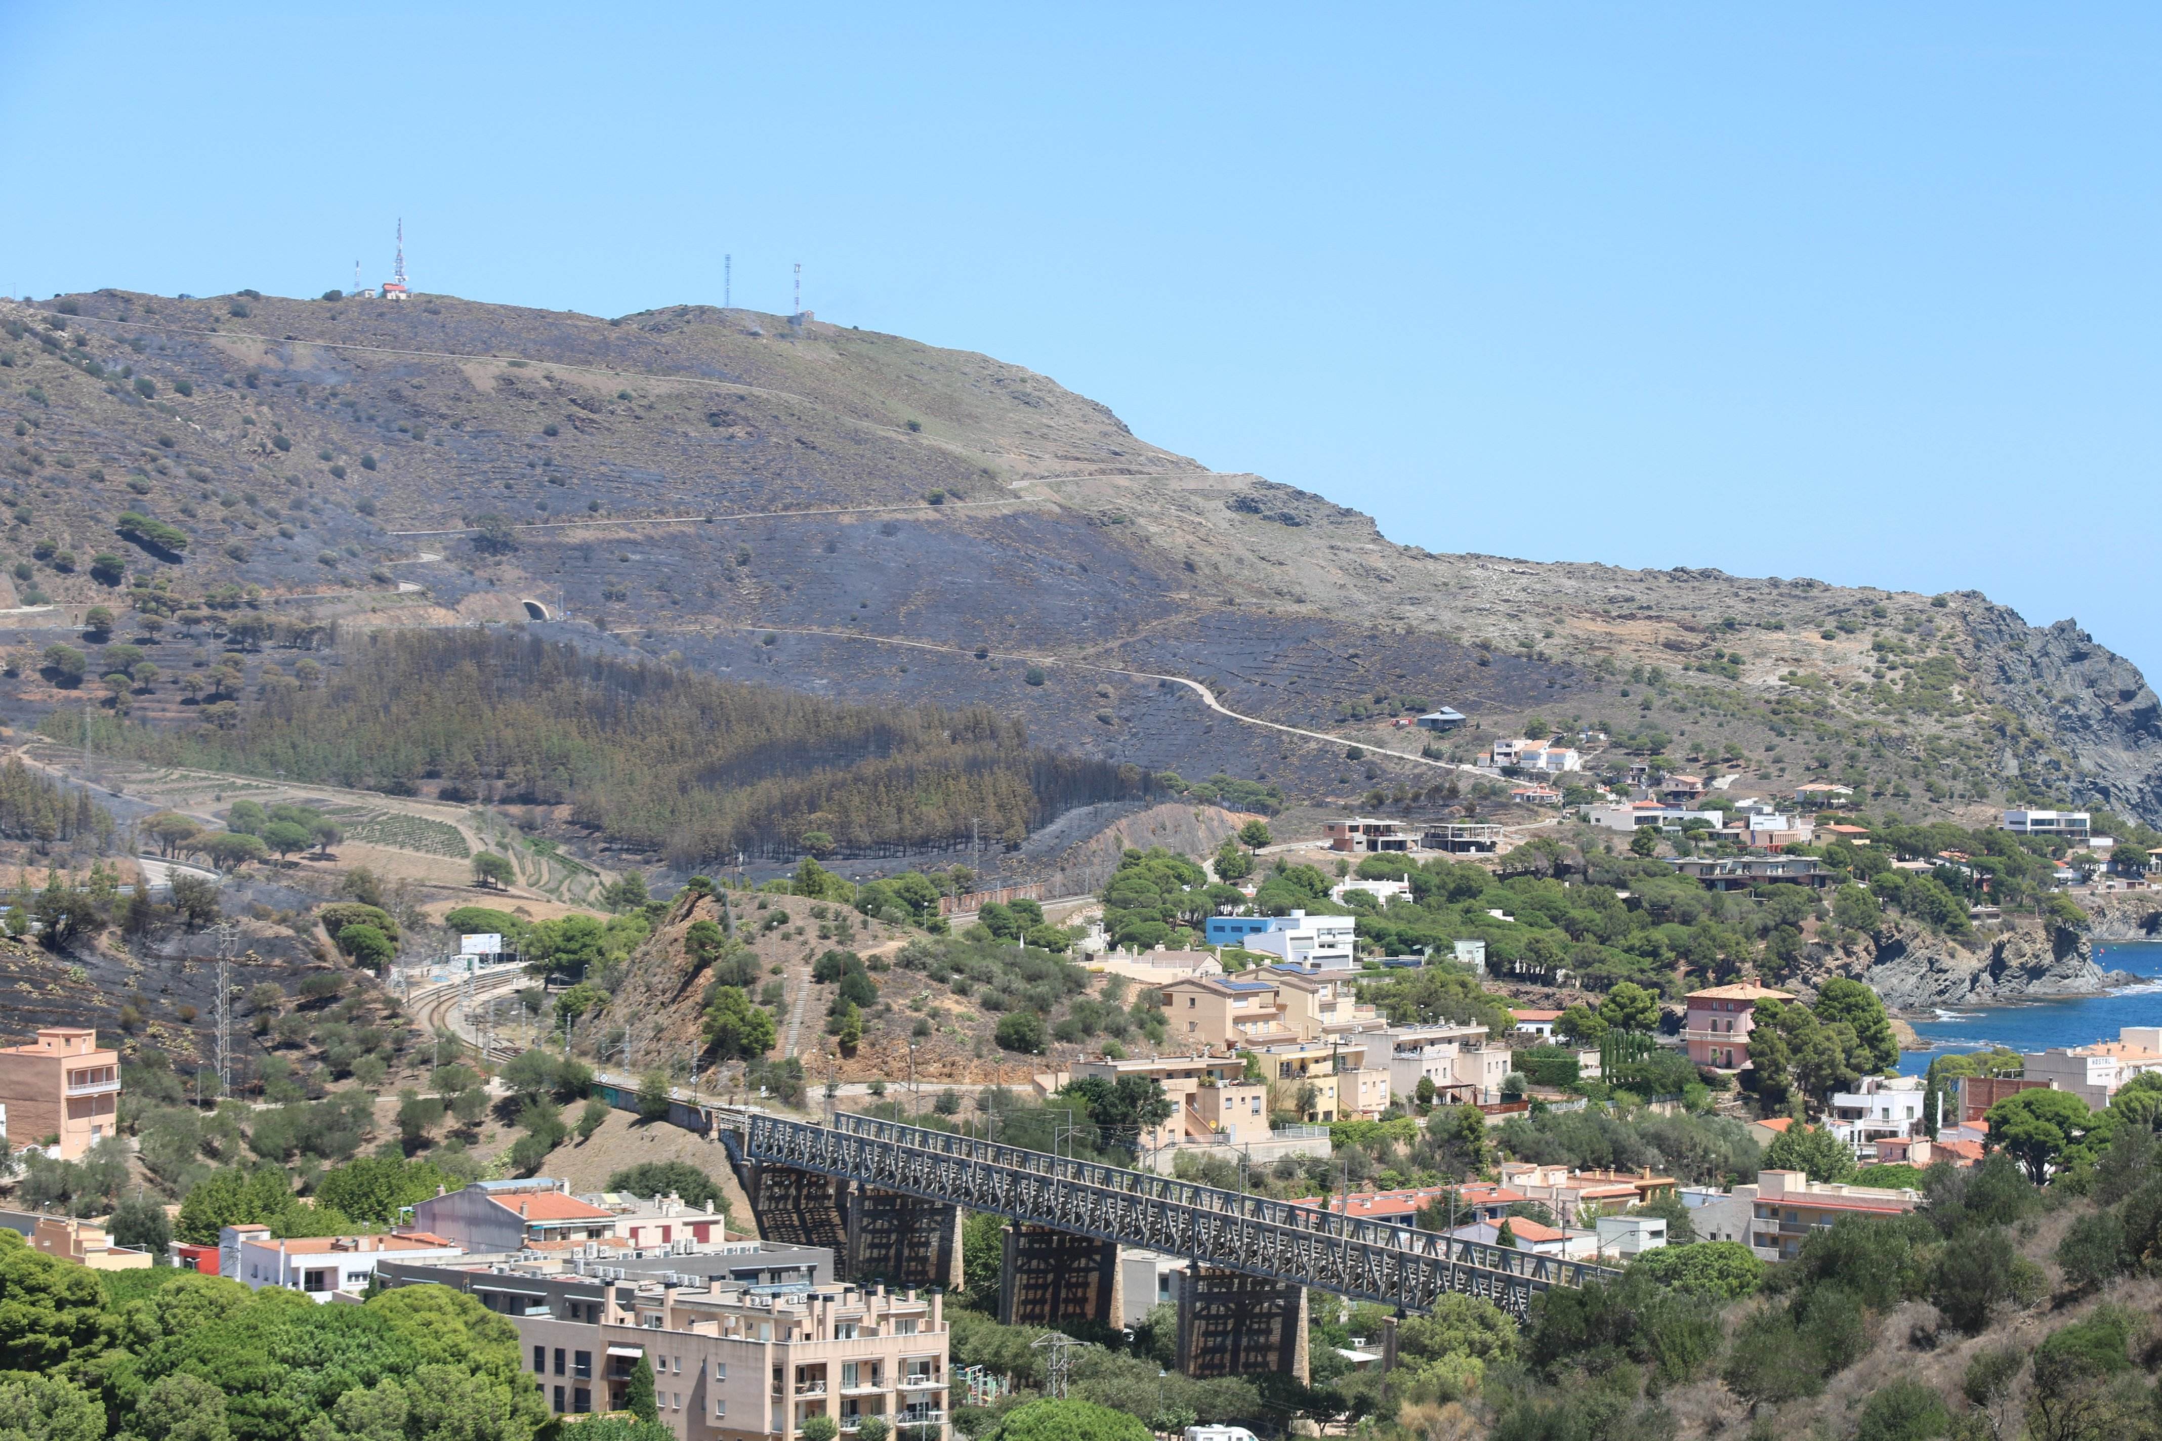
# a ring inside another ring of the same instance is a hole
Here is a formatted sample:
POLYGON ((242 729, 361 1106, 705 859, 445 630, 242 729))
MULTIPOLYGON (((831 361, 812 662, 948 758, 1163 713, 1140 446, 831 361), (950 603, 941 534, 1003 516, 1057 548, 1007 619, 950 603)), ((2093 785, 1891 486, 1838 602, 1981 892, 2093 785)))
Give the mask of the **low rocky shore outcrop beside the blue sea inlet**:
POLYGON ((2095 966, 2084 938, 2063 931, 2052 938, 2041 927, 2008 927, 1961 946, 1929 927, 1898 922, 1840 959, 1833 970, 1868 981, 1887 1007, 1905 1011, 2095 996, 2130 981, 2095 966))

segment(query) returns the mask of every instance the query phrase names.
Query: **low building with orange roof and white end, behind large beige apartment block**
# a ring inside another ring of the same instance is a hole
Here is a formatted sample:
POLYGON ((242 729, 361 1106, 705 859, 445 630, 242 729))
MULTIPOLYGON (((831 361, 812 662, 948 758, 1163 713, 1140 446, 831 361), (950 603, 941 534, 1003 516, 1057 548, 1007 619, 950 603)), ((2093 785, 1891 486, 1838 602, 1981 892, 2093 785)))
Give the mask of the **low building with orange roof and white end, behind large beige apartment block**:
POLYGON ((530 1251, 592 1240, 633 1247, 707 1244, 726 1240, 720 1212, 677 1197, 651 1201, 625 1195, 571 1195, 547 1177, 473 1182, 413 1208, 415 1231, 443 1236, 467 1251, 530 1251))

